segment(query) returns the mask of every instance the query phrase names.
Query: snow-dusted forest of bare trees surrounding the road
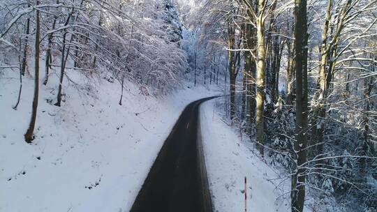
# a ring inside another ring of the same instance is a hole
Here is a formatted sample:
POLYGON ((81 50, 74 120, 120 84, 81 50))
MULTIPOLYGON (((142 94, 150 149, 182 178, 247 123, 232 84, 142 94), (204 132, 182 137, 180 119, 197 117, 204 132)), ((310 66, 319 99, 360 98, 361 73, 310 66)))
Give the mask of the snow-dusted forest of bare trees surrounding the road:
POLYGON ((130 83, 145 100, 216 89, 292 212, 376 211, 376 22, 376 0, 2 0, 0 100, 17 92, 0 109, 30 111, 34 144, 41 102, 66 107, 68 88, 109 82, 119 106, 130 83))

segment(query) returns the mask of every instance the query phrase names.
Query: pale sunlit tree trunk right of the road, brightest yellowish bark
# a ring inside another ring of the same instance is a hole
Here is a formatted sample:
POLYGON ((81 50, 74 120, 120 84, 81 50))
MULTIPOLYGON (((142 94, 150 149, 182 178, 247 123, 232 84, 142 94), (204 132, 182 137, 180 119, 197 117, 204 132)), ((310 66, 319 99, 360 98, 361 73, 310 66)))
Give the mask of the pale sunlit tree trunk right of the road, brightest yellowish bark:
POLYGON ((257 95, 256 95, 256 140, 258 142, 258 149, 260 155, 264 156, 265 132, 264 132, 264 107, 265 107, 265 27, 264 27, 264 10, 265 0, 258 2, 259 14, 257 17, 257 95))

